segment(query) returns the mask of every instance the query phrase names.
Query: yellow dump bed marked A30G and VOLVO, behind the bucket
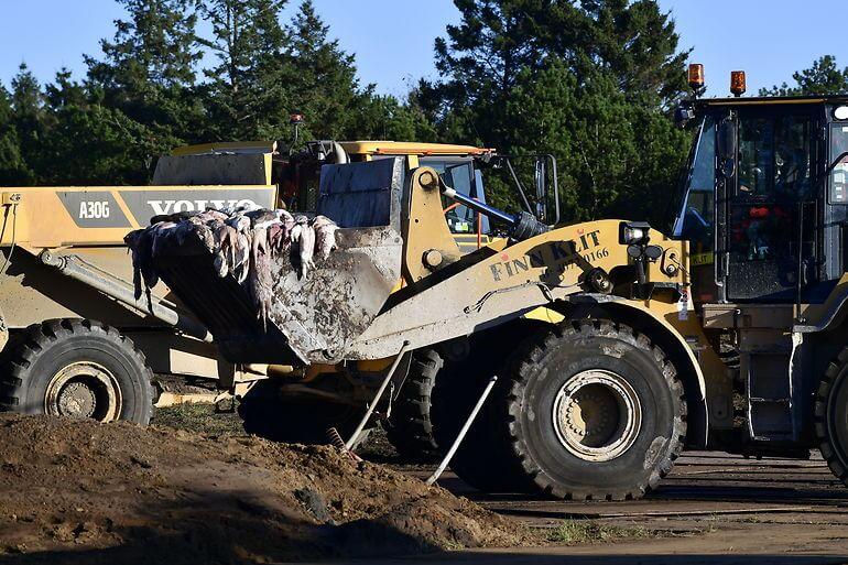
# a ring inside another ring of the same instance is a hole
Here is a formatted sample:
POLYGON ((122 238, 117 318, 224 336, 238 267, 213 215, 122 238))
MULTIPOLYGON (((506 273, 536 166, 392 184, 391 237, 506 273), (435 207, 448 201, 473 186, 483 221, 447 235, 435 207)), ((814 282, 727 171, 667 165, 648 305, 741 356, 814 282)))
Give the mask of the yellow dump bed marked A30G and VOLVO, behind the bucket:
MULTIPOLYGON (((0 278, 0 308, 7 327, 26 328, 62 318, 104 320, 139 335, 140 341, 171 341, 170 347, 159 348, 164 355, 149 356, 155 372, 221 376, 214 348, 173 335, 171 327, 149 315, 144 301, 129 305, 109 300, 91 285, 69 280, 45 264, 40 254, 48 249, 55 257, 76 256, 131 289, 132 264, 123 243, 128 230, 165 210, 202 210, 229 203, 273 206, 274 186, 9 187, 2 194, 14 199, 6 206, 0 241, 9 259, 0 278)), ((166 301, 174 300, 166 289, 157 292, 166 301)), ((226 372, 231 378, 232 369, 226 372)))

